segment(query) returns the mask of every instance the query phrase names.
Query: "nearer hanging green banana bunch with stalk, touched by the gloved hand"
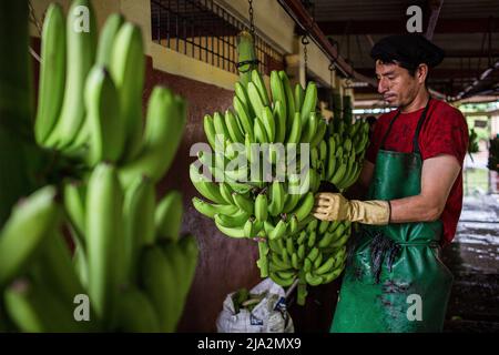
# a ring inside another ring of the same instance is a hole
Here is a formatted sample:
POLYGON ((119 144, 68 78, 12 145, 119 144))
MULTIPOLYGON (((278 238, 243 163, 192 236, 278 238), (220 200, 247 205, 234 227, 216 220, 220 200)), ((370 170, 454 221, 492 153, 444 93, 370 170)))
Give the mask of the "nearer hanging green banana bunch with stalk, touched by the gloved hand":
POLYGON ((261 73, 251 69, 255 58, 252 36, 242 32, 238 38, 240 62, 248 64, 240 68, 244 72, 235 84, 234 111, 204 116, 206 140, 215 151, 198 154, 212 176, 223 179, 206 179, 195 163, 191 164, 191 181, 206 199, 194 197, 192 202, 225 235, 259 240, 257 266, 266 277, 268 242, 298 233, 313 219, 314 193, 323 173, 323 166, 307 166, 308 152, 307 156, 295 156, 293 170, 286 169, 283 153, 296 145, 298 151, 301 143, 309 149, 317 146, 327 124, 316 112, 314 82, 306 89, 301 84, 292 88, 284 71, 273 71, 268 92, 261 73), (262 155, 253 149, 255 144, 262 155), (221 145, 223 149, 217 150, 221 145), (241 158, 247 163, 231 169, 241 158), (263 164, 254 169, 252 163, 261 161, 263 164), (264 169, 266 161, 269 171, 264 169))

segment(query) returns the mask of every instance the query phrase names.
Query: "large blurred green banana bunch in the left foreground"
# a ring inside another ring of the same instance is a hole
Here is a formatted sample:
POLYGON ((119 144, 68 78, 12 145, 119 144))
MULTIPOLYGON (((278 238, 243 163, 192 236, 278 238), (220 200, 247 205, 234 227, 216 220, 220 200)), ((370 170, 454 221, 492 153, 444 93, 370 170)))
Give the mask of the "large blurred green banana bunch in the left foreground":
POLYGON ((2 331, 174 332, 195 275, 182 195, 155 196, 186 103, 154 88, 142 131, 142 33, 114 14, 99 43, 96 34, 89 0, 73 1, 67 19, 49 7, 33 135, 71 164, 1 226, 2 331), (75 30, 81 6, 90 31, 75 30))

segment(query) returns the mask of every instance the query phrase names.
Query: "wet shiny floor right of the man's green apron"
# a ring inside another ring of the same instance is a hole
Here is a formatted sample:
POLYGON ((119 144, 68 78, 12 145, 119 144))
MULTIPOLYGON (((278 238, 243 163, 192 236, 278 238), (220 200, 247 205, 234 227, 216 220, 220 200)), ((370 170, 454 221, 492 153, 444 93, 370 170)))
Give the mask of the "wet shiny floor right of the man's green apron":
POLYGON ((499 194, 465 197, 442 260, 455 276, 445 332, 499 332, 499 194))

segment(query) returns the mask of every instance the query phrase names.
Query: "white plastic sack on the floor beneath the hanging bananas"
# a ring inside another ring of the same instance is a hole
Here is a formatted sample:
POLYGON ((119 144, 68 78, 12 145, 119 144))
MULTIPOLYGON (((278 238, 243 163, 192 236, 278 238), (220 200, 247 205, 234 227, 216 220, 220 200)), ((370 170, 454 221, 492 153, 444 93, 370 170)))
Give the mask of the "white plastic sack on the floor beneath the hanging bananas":
POLYGON ((294 333, 293 320, 286 310, 284 288, 272 278, 265 278, 249 293, 267 295, 249 312, 241 308, 235 313, 232 298, 234 293, 225 297, 223 310, 216 320, 218 333, 294 333))

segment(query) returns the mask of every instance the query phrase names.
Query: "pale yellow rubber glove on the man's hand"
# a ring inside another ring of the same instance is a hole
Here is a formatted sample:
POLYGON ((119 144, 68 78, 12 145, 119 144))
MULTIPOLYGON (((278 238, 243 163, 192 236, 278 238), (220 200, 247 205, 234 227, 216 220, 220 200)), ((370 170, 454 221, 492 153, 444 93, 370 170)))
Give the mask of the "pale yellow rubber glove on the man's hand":
POLYGON ((390 221, 388 201, 347 200, 340 193, 320 192, 315 195, 313 214, 323 221, 350 221, 385 225, 390 221))

